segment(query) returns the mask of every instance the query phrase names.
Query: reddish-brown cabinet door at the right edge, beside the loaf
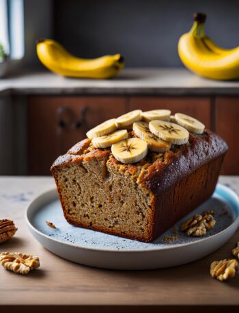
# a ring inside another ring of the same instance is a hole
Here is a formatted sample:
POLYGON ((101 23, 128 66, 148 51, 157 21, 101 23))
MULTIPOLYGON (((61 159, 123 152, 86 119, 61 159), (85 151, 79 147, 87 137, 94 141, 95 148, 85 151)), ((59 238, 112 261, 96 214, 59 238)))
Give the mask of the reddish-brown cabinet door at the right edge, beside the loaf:
POLYGON ((239 97, 216 98, 215 125, 229 147, 221 173, 239 175, 239 97))

